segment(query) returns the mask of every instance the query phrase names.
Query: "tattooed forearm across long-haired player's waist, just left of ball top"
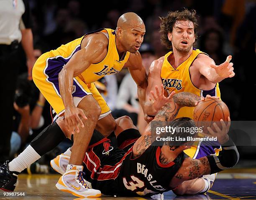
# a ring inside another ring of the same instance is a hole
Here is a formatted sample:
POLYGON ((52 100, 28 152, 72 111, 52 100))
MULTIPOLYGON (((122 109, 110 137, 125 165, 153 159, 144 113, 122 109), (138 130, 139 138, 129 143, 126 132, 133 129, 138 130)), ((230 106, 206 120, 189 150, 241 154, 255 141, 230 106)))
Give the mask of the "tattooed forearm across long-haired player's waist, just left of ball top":
POLYGON ((199 101, 201 98, 190 92, 179 92, 173 96, 174 102, 177 103, 180 107, 188 106, 194 107, 195 102, 199 101))

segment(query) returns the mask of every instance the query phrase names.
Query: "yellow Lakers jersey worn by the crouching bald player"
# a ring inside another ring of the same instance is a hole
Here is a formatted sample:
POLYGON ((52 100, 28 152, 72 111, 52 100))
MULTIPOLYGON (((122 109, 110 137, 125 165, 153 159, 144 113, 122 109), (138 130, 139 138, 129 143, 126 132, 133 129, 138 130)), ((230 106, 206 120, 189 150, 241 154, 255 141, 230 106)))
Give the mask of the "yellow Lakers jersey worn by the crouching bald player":
POLYGON ((89 32, 83 37, 80 37, 66 45, 61 45, 56 50, 51 50, 49 53, 52 57, 56 57, 63 60, 63 65, 65 65, 69 59, 74 55, 75 52, 81 49, 80 45, 84 37, 89 34, 96 32, 105 32, 108 35, 108 52, 105 58, 95 64, 91 64, 84 72, 82 72, 78 77, 84 81, 86 84, 95 82, 105 75, 110 75, 113 73, 118 73, 125 63, 127 62, 130 52, 125 52, 122 58, 119 58, 118 51, 115 45, 115 31, 102 28, 100 30, 89 32))

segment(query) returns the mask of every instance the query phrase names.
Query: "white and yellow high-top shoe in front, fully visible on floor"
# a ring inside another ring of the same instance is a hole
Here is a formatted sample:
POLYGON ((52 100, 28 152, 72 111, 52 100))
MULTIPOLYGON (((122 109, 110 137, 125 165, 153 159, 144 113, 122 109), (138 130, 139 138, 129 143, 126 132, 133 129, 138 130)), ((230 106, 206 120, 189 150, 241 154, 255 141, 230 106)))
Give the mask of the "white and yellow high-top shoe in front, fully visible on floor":
POLYGON ((59 178, 56 188, 77 197, 100 197, 100 190, 90 188, 82 174, 82 168, 74 166, 72 170, 67 171, 59 178))

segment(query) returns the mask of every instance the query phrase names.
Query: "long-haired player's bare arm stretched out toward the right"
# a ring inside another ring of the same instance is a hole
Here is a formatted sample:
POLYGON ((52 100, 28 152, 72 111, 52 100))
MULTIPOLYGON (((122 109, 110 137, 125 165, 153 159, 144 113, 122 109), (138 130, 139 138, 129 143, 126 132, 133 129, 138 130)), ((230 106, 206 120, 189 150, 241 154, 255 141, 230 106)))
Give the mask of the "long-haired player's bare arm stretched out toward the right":
POLYGON ((229 55, 225 62, 215 65, 215 62, 208 55, 200 54, 192 65, 199 69, 200 74, 210 82, 217 83, 235 75, 233 63, 230 62, 231 58, 232 56, 229 55))

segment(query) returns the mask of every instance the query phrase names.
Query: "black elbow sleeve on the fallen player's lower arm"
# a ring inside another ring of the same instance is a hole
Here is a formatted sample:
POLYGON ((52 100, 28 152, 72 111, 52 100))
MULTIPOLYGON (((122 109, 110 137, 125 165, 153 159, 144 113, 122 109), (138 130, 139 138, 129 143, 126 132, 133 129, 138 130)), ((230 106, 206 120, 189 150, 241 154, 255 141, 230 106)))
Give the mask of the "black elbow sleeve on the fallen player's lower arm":
POLYGON ((229 138, 228 142, 223 144, 222 151, 218 156, 208 155, 207 158, 210 163, 211 174, 214 174, 235 166, 239 160, 239 153, 236 145, 229 138))

